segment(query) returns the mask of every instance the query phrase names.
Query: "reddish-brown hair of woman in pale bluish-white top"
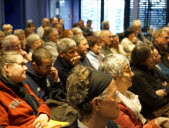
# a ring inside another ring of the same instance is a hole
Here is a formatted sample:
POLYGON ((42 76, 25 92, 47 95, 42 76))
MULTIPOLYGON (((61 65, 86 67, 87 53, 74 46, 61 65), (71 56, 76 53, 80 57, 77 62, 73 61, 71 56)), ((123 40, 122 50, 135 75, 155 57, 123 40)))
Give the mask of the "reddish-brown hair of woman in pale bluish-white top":
POLYGON ((97 36, 88 36, 87 41, 88 41, 89 47, 93 47, 95 44, 101 43, 100 37, 97 37, 97 36))

